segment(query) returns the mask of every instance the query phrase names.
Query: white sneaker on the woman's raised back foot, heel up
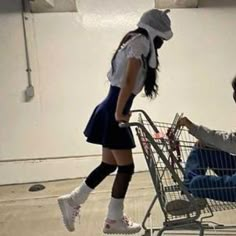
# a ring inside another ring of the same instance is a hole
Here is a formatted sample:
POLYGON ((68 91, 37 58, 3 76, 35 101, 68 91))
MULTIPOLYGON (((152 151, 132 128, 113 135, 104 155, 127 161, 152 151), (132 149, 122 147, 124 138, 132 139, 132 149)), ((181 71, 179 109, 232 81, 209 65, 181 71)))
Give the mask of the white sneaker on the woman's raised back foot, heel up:
POLYGON ((71 205, 70 195, 63 195, 57 199, 58 205, 61 209, 64 224, 68 231, 72 232, 75 230, 75 218, 79 214, 80 206, 73 207, 71 205))

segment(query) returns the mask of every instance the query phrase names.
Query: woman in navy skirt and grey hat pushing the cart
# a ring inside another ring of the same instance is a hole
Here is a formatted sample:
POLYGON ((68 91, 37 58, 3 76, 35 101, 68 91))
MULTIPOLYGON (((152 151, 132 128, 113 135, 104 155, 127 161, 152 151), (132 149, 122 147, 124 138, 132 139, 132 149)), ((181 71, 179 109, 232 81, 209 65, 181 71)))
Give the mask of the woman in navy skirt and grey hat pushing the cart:
POLYGON ((129 234, 141 230, 141 226, 131 222, 123 212, 124 198, 134 173, 131 150, 135 144, 131 129, 120 128, 119 122, 129 121, 133 99, 143 88, 147 97, 157 95, 157 49, 173 35, 168 12, 157 9, 145 12, 138 28, 124 36, 112 58, 108 96, 95 108, 84 132, 88 142, 102 145, 102 162, 81 186, 58 198, 69 231, 74 231, 75 216, 90 192, 116 169, 103 232, 129 234))

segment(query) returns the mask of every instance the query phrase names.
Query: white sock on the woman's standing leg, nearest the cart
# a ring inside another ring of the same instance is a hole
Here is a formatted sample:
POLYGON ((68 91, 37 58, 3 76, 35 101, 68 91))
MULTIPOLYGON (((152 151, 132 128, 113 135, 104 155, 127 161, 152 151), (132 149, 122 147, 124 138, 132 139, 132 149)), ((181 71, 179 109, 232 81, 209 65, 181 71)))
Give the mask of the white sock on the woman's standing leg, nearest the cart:
POLYGON ((107 218, 110 220, 119 220, 123 217, 124 199, 111 198, 107 218))

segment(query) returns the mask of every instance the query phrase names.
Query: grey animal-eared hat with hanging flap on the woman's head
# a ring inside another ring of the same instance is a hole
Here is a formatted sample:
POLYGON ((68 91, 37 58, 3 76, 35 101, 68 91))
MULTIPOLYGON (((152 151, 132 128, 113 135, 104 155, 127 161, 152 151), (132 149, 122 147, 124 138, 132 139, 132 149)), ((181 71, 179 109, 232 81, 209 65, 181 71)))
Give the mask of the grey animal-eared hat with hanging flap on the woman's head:
POLYGON ((169 40, 173 36, 171 30, 171 20, 167 13, 170 12, 169 9, 165 11, 160 11, 158 9, 151 9, 145 12, 140 18, 137 26, 143 28, 148 32, 149 40, 151 44, 151 55, 149 59, 149 66, 156 68, 156 53, 153 40, 156 36, 159 36, 163 40, 169 40))

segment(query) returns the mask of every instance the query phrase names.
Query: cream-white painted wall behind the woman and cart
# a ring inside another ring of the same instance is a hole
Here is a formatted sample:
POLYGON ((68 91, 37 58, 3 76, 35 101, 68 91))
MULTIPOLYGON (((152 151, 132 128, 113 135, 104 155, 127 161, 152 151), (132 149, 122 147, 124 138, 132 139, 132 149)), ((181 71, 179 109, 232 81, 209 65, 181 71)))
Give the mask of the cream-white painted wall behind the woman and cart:
MULTIPOLYGON (((0 9, 12 9, 0 14, 0 160, 100 153, 100 147, 85 142, 83 129, 107 93, 106 72, 117 44, 153 5, 151 0, 84 0, 79 1, 79 13, 31 16, 36 96, 25 103, 20 1, 0 2, 0 9)), ((159 52, 160 95, 152 102, 139 96, 133 108, 169 122, 183 111, 198 123, 231 129, 236 115, 230 87, 236 74, 236 7, 176 9, 171 18, 174 38, 159 52)), ((138 159, 137 169, 144 169, 138 159)), ((98 161, 0 163, 0 184, 84 176, 98 161)))

